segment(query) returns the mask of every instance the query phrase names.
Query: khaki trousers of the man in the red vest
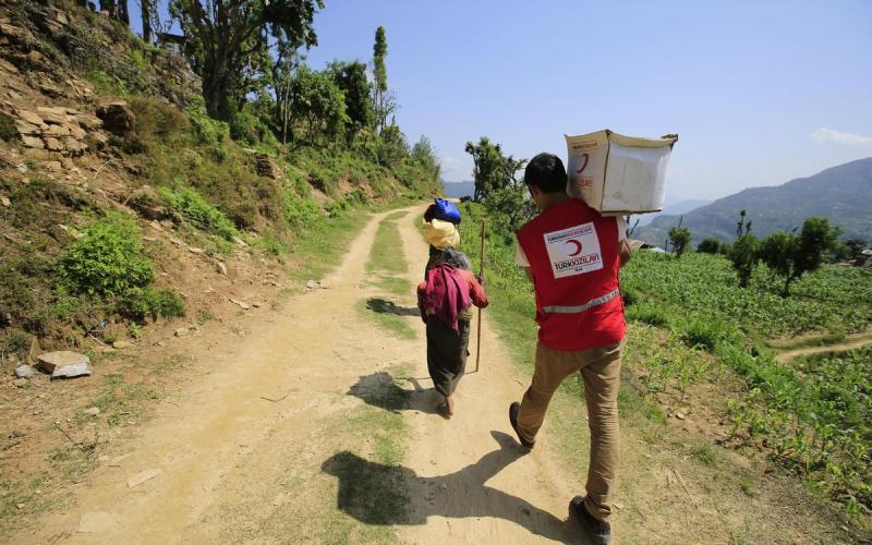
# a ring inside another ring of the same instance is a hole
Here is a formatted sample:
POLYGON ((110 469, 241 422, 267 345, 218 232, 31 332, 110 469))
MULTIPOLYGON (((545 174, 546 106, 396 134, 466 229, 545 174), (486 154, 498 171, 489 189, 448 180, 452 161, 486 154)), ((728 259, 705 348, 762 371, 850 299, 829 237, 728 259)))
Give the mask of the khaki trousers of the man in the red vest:
POLYGON ((518 414, 521 436, 526 440, 534 440, 557 387, 572 373, 581 373, 591 431, 591 459, 584 506, 593 517, 602 521, 606 521, 611 514, 610 500, 618 472, 618 388, 622 349, 623 341, 579 351, 553 350, 537 343, 533 383, 524 393, 518 414))

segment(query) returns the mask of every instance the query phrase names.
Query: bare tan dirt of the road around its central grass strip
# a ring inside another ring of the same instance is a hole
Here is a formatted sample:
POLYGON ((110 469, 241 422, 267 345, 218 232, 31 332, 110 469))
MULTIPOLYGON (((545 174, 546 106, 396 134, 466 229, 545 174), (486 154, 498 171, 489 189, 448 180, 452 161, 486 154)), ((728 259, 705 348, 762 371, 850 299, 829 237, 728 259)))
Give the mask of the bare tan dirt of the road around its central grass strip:
MULTIPOLYGON (((506 408, 523 388, 491 329, 483 335, 482 370, 464 379, 458 414, 446 422, 433 414, 420 319, 407 313, 417 338, 404 340, 385 335, 355 312, 371 294, 364 265, 384 216, 374 217, 352 243, 342 264, 324 280, 327 289, 290 301, 275 322, 261 324, 244 340, 228 338, 211 348, 192 341, 186 350, 211 372, 184 386, 183 393, 165 403, 125 446, 125 452, 71 491, 73 508, 46 513, 34 535, 20 538, 331 541, 324 529, 306 528, 312 524, 305 522, 349 517, 325 513, 342 510, 337 494, 347 486, 338 481, 348 475, 330 474, 331 461, 358 456, 344 449, 347 441, 336 435, 341 435, 342 420, 366 402, 361 384, 402 365, 420 378, 402 387, 414 390, 416 384, 423 391, 412 393, 410 409, 403 411, 411 429, 400 472, 410 499, 409 517, 398 513, 387 521, 396 523, 400 538, 410 543, 562 540, 569 492, 549 479, 544 455, 522 456, 506 435, 506 408), (130 480, 149 473, 158 474, 129 486, 130 480)), ((410 210, 400 225, 408 278, 416 283, 426 245, 413 220, 410 210)), ((366 520, 366 514, 358 519, 379 522, 366 520)), ((354 535, 349 538, 354 541, 354 535)))

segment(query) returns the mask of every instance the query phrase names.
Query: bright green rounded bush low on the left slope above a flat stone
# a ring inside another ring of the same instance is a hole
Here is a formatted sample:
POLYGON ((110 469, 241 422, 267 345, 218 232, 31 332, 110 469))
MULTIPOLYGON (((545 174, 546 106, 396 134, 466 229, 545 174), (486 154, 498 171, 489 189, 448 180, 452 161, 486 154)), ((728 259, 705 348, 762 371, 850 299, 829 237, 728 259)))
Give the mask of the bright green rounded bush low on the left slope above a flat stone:
POLYGON ((100 296, 122 295, 154 278, 138 227, 119 214, 94 221, 68 244, 61 268, 73 292, 100 296))

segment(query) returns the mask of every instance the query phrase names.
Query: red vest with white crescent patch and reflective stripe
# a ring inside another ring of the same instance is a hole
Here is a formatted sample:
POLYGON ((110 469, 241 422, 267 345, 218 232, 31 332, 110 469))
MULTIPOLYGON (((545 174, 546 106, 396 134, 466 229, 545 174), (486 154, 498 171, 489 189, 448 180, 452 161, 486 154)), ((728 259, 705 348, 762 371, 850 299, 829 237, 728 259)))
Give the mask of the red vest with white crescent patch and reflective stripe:
POLYGON ((623 338, 615 218, 581 201, 545 209, 518 231, 536 290, 538 339, 554 350, 588 350, 623 338))

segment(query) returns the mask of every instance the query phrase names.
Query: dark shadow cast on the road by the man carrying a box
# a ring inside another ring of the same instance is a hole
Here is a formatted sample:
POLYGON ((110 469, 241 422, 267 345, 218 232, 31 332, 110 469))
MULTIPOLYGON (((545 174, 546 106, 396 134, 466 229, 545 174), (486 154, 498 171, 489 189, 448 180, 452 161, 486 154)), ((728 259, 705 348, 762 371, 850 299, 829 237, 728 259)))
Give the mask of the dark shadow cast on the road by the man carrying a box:
MULTIPOLYGON (((365 524, 425 524, 429 516, 505 519, 531 534, 565 543, 585 543, 581 529, 529 501, 485 483, 525 451, 508 435, 491 432, 499 448, 448 475, 423 477, 402 465, 371 462, 349 451, 338 452, 322 471, 339 480, 337 507, 365 524), (410 498, 424 498, 410 508, 410 498)), ((446 446, 446 448, 450 448, 446 446)))

